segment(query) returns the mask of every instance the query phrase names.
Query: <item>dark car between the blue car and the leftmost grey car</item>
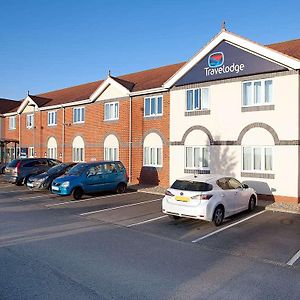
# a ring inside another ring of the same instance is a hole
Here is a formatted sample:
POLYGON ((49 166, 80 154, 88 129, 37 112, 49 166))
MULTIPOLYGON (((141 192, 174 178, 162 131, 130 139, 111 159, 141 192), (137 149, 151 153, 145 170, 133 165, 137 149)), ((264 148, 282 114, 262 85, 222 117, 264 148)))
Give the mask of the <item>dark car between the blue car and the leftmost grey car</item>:
POLYGON ((56 165, 44 173, 30 176, 26 185, 31 190, 48 190, 55 178, 65 174, 75 165, 76 163, 73 162, 56 165))

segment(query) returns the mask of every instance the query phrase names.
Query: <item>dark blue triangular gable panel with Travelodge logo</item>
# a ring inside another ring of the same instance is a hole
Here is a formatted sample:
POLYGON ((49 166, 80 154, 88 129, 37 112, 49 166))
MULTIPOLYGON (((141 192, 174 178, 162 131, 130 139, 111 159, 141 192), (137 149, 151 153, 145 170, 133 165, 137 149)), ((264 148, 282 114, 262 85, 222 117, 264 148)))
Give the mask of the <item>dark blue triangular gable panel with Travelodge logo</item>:
POLYGON ((181 77, 175 86, 286 70, 277 63, 223 41, 181 77))

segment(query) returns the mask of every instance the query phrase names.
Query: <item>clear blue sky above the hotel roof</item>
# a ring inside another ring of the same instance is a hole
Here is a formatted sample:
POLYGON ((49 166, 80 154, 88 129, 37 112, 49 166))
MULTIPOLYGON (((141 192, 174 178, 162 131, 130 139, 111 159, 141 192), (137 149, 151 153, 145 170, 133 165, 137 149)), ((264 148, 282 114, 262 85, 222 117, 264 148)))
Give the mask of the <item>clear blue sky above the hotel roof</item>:
POLYGON ((190 59, 221 30, 300 38, 300 1, 0 0, 0 98, 190 59))

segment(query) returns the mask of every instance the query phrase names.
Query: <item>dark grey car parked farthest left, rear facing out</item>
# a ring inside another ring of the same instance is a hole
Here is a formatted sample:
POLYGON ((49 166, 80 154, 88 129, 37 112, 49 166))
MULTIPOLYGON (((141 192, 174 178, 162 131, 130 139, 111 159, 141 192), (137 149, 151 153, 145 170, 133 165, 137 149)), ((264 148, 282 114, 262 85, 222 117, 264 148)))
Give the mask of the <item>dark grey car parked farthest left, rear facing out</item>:
POLYGON ((26 184, 29 176, 43 173, 60 163, 51 158, 14 159, 5 168, 4 180, 17 185, 26 184))

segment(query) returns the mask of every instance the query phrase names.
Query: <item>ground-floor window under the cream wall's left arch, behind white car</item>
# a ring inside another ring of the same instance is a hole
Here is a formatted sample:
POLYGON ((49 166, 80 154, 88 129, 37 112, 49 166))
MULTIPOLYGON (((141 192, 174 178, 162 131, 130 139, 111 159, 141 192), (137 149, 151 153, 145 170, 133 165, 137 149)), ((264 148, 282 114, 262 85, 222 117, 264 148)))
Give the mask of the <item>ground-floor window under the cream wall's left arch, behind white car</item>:
POLYGON ((186 146, 185 167, 187 169, 209 170, 208 146, 186 146))

